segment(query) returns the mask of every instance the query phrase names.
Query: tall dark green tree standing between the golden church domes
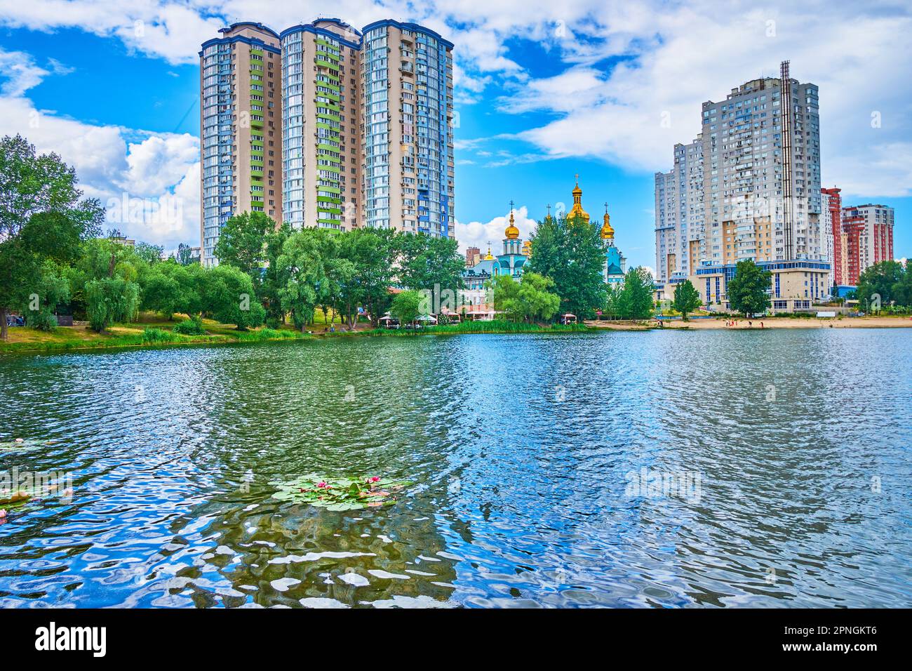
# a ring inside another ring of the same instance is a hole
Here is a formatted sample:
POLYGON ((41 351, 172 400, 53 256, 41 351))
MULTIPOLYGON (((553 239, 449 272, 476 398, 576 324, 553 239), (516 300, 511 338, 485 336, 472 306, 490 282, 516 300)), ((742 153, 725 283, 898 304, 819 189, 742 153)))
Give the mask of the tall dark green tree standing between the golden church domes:
POLYGON ((605 248, 596 226, 579 217, 554 217, 536 225, 524 272, 554 280, 560 309, 588 318, 605 305, 604 264, 605 248))

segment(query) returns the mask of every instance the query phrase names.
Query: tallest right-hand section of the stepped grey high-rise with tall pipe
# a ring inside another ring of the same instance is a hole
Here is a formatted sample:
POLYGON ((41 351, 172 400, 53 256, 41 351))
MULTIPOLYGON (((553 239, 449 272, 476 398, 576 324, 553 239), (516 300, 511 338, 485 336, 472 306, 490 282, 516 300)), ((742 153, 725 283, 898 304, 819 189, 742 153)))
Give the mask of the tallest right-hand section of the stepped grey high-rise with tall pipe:
POLYGON ((702 137, 704 261, 822 258, 817 87, 786 61, 779 79, 704 102, 702 137))

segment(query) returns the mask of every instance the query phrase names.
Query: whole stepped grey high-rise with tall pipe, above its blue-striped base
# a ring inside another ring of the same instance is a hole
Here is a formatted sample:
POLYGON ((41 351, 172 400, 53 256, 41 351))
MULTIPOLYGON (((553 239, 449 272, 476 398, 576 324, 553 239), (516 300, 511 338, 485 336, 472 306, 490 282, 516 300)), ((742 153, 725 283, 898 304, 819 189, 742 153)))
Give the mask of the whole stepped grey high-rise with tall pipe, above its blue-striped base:
POLYGON ((817 87, 792 79, 786 61, 780 78, 704 102, 700 136, 675 145, 675 167, 656 175, 656 236, 660 281, 745 258, 823 259, 817 87))

